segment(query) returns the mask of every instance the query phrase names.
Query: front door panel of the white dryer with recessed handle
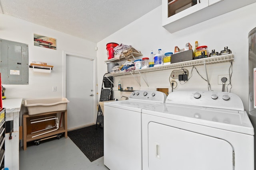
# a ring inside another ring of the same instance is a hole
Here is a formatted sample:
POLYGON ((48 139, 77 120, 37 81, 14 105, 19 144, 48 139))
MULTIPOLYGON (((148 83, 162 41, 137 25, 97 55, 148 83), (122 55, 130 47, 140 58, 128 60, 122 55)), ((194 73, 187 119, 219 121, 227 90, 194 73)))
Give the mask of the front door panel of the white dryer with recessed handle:
POLYGON ((160 123, 148 124, 149 170, 233 170, 225 140, 160 123))

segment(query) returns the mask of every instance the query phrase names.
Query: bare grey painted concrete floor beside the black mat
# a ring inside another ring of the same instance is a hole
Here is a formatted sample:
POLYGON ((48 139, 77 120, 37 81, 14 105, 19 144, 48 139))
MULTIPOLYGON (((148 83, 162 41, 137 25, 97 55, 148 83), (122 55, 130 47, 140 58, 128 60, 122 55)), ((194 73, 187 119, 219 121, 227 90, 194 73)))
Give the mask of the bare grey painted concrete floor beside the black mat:
POLYGON ((90 162, 69 137, 20 148, 20 170, 109 170, 103 162, 104 157, 90 162))

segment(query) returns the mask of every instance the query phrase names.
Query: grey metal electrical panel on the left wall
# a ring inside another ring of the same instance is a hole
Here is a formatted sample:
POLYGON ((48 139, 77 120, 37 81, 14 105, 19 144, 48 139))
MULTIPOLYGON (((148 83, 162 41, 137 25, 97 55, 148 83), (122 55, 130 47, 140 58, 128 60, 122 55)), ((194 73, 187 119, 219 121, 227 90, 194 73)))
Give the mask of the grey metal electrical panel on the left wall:
POLYGON ((2 84, 28 84, 28 45, 0 39, 2 84))

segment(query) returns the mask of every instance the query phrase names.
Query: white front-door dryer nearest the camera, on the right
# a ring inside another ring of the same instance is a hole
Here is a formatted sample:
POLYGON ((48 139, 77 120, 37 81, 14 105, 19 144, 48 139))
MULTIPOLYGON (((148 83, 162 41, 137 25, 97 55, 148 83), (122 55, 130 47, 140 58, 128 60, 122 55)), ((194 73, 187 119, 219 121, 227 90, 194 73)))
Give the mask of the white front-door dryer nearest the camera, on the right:
POLYGON ((227 92, 182 91, 142 109, 143 170, 254 170, 254 129, 227 92))

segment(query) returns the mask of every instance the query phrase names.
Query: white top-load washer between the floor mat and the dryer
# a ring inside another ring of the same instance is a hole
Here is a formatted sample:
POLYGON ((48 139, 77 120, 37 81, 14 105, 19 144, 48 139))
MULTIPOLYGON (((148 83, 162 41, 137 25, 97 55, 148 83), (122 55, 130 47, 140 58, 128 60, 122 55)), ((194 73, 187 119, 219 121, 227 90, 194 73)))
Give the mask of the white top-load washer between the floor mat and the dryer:
POLYGON ((166 100, 158 91, 135 91, 128 100, 104 103, 104 164, 110 170, 142 170, 142 109, 166 100))

